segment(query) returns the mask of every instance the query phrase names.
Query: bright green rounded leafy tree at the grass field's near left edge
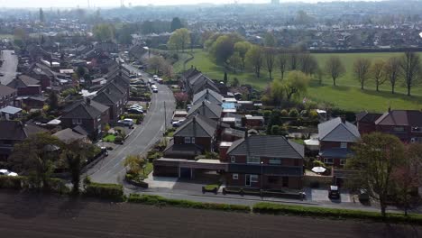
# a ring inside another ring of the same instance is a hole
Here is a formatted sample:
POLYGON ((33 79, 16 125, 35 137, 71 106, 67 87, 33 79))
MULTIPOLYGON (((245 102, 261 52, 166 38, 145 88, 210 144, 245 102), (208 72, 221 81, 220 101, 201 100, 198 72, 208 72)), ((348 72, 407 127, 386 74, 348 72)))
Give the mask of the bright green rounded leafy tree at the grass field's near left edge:
POLYGON ((300 96, 307 92, 309 77, 300 71, 291 71, 285 82, 283 82, 284 91, 288 101, 292 96, 300 96))

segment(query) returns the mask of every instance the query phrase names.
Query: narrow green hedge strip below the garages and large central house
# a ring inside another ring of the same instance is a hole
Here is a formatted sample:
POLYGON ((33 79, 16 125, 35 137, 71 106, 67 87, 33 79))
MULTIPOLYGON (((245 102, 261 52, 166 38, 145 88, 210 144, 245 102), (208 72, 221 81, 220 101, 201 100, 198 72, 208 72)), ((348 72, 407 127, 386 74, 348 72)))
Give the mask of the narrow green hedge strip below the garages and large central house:
POLYGON ((161 196, 155 195, 139 195, 131 194, 127 199, 130 203, 140 203, 146 205, 154 206, 177 206, 177 207, 189 207, 197 209, 207 209, 207 210, 223 210, 223 211, 236 211, 243 213, 250 213, 250 206, 243 205, 229 205, 229 204, 215 204, 215 203, 201 203, 188 200, 179 200, 179 199, 168 199, 161 196))

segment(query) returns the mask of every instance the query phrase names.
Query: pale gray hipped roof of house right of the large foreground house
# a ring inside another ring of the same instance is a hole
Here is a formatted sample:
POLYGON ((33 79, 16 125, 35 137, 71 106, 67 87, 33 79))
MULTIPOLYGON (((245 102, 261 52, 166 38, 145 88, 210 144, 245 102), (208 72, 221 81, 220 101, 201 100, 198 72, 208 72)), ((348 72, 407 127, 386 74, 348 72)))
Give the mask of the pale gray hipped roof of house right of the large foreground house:
POLYGON ((337 117, 318 124, 318 137, 321 142, 356 142, 361 134, 354 124, 337 117))

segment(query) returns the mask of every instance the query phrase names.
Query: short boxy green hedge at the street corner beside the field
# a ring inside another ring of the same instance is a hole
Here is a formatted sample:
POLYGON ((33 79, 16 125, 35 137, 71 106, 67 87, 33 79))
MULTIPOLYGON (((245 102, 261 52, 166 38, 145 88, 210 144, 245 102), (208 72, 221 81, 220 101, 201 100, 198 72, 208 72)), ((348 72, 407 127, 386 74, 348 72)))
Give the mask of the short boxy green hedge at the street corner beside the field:
POLYGON ((87 197, 98 197, 122 202, 124 200, 124 189, 120 184, 101 184, 91 182, 87 184, 87 188, 85 188, 85 195, 87 197))

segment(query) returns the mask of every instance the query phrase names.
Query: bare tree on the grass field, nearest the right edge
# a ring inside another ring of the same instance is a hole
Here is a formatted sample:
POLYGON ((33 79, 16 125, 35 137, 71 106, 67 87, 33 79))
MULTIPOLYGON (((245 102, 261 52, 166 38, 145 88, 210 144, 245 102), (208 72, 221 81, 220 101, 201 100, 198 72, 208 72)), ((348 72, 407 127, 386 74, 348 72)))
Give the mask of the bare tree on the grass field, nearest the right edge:
POLYGON ((410 90, 417 83, 421 73, 419 55, 414 51, 406 51, 401 59, 400 68, 403 72, 405 85, 408 88, 408 96, 410 96, 410 90))

